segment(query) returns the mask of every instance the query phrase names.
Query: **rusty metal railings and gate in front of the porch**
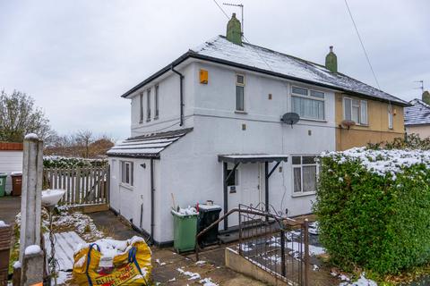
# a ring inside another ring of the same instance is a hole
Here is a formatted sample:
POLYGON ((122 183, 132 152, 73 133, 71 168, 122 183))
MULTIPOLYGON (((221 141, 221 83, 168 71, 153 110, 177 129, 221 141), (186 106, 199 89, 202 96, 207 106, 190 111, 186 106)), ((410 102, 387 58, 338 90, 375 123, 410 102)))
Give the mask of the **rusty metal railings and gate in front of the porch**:
POLYGON ((307 221, 265 210, 239 205, 239 255, 288 284, 309 285, 307 221))

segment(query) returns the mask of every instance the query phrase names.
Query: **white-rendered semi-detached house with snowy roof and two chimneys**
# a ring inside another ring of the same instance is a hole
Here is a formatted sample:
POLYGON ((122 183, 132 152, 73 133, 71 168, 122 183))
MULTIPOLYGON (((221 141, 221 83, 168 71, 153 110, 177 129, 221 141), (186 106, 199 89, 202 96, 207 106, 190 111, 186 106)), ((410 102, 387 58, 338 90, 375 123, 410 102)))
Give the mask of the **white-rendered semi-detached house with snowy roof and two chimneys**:
POLYGON ((315 156, 337 148, 337 95, 367 100, 372 126, 378 106, 401 114, 408 105, 338 72, 332 50, 321 65, 243 42, 233 14, 227 37, 190 49, 122 96, 132 102, 132 134, 107 151, 110 206, 156 243, 173 240, 172 197, 182 207, 210 199, 223 213, 238 204, 311 213, 315 156), (287 113, 300 120, 282 122, 287 113))

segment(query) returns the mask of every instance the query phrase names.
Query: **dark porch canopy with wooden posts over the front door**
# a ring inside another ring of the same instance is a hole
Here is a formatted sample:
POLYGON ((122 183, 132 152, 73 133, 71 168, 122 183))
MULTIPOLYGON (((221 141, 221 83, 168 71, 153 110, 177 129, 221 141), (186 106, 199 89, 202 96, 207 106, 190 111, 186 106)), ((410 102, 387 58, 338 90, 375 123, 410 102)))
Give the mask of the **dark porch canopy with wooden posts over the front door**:
MULTIPOLYGON (((224 185, 224 214, 228 212, 228 179, 236 172, 239 164, 247 163, 264 163, 264 205, 266 212, 269 212, 269 178, 276 170, 281 162, 288 162, 287 155, 272 155, 272 154, 234 154, 234 155, 219 155, 218 162, 223 163, 223 185, 224 185), (276 164, 269 170, 269 163, 276 164), (233 169, 228 171, 228 163, 235 164, 233 169)), ((224 219, 224 230, 228 229, 228 217, 224 219)))

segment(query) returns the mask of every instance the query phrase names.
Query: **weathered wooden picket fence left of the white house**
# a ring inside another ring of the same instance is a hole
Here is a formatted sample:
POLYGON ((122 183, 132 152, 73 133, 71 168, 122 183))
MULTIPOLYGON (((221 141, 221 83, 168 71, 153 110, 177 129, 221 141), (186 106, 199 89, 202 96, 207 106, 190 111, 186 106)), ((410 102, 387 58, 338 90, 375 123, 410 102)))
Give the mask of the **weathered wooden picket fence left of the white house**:
POLYGON ((44 169, 44 185, 65 189, 64 205, 97 205, 109 202, 109 166, 44 169))

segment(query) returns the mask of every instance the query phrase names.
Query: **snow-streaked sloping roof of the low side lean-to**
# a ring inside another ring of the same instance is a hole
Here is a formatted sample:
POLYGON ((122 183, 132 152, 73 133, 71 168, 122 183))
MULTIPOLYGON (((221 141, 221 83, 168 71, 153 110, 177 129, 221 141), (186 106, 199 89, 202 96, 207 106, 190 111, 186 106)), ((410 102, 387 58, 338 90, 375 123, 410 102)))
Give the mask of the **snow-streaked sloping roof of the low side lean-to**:
POLYGON ((193 129, 142 135, 123 141, 107 151, 107 156, 158 157, 159 153, 193 129))

